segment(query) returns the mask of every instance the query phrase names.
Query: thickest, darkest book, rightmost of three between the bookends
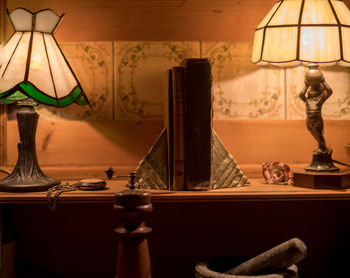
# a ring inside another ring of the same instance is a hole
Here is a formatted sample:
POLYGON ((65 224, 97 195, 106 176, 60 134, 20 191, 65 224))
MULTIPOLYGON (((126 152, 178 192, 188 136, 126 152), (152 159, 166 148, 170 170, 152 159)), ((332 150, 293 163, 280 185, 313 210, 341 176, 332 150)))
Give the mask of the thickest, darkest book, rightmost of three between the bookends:
POLYGON ((209 190, 212 176, 212 76, 208 59, 187 59, 185 69, 185 184, 209 190))

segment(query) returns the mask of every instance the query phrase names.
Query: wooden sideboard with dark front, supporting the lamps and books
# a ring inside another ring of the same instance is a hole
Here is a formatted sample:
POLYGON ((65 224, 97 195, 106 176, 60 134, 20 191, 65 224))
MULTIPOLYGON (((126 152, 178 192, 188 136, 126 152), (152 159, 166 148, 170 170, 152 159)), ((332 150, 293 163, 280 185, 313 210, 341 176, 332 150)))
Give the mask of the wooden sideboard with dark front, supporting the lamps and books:
MULTIPOLYGON (((308 246, 300 277, 349 274, 349 189, 251 182, 208 192, 150 190, 153 277, 193 277, 198 261, 255 255, 292 237, 308 246)), ((45 192, 1 193, 0 203, 16 231, 19 277, 114 277, 118 220, 112 206, 125 183, 109 181, 104 191, 63 193, 54 215, 45 192)))

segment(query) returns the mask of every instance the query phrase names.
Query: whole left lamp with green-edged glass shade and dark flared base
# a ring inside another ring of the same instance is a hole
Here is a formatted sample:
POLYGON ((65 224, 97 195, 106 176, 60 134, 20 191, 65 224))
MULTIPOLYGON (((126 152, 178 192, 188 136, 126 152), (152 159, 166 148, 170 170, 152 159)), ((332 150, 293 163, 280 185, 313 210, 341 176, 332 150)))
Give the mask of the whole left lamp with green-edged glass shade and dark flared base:
POLYGON ((45 191, 60 181, 41 171, 35 149, 38 103, 65 107, 89 104, 53 34, 63 15, 23 8, 8 16, 15 30, 0 50, 0 103, 17 103, 20 135, 13 172, 0 181, 0 191, 45 191))

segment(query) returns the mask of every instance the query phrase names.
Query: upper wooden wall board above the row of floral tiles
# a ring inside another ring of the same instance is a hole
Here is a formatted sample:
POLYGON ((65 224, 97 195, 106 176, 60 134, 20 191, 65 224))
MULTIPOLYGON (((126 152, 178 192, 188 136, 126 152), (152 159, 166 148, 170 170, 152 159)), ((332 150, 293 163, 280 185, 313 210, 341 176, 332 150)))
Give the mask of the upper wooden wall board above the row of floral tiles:
POLYGON ((66 13, 59 41, 252 41, 275 0, 8 0, 8 8, 66 13))

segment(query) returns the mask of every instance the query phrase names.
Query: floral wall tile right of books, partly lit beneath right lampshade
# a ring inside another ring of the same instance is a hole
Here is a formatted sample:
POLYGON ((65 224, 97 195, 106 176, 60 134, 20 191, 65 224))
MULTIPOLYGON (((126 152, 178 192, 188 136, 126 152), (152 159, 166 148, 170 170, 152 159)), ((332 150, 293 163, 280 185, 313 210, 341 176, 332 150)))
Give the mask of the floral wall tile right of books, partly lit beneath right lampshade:
POLYGON ((283 70, 250 62, 249 43, 202 43, 212 65, 215 119, 284 118, 283 70))

